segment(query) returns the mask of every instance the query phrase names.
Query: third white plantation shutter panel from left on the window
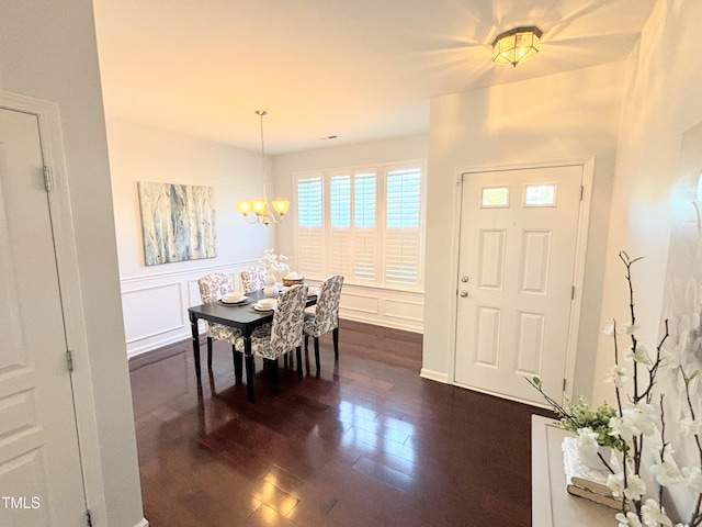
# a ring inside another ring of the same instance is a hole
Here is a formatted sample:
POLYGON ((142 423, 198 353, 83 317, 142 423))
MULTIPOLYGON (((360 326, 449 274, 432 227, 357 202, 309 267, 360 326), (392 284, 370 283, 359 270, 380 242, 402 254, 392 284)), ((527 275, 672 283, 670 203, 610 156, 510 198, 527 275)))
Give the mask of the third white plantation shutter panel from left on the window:
POLYGON ((353 178, 353 278, 376 280, 376 175, 359 172, 353 178))

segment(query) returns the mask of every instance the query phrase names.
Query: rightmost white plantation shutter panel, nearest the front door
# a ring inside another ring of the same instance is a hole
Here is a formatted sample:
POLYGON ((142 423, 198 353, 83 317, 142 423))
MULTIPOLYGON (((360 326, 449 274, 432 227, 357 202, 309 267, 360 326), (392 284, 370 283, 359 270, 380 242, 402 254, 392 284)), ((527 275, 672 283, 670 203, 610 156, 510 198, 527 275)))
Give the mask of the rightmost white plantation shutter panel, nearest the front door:
POLYGON ((385 180, 385 281, 420 281, 421 168, 388 170, 385 180))

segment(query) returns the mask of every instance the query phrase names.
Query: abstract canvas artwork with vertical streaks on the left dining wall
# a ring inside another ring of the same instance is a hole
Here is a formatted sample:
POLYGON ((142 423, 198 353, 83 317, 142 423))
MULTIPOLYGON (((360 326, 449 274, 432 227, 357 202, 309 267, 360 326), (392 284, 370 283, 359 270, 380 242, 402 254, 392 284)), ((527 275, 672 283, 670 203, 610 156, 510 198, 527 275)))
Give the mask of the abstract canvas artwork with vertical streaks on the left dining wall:
POLYGON ((147 266, 217 256, 212 187, 139 181, 147 266))

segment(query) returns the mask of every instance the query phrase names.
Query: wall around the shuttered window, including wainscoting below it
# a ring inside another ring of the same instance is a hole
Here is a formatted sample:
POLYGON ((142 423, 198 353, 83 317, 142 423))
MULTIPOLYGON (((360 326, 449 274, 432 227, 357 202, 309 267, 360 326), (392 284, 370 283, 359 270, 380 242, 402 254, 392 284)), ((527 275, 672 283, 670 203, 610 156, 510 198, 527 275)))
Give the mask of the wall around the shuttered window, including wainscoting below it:
MULTIPOLYGON (((407 159, 424 159, 428 136, 412 135, 358 145, 320 148, 280 155, 274 158, 275 188, 287 197, 291 211, 278 225, 275 247, 285 255, 295 255, 295 188, 296 171, 344 168, 356 165, 386 164, 407 159)), ((293 260, 294 267, 294 260, 293 260)), ((344 283, 339 315, 342 318, 421 333, 423 329, 423 293, 393 291, 344 283)))

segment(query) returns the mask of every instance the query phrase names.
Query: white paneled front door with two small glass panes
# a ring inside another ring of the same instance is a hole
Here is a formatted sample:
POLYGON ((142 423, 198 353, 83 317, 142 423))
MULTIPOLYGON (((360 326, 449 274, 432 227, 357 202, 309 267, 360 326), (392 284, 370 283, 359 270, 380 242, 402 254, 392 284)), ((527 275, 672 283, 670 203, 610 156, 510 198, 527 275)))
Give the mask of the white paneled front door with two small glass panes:
POLYGON ((557 397, 570 330, 582 167, 463 176, 455 382, 557 397))

